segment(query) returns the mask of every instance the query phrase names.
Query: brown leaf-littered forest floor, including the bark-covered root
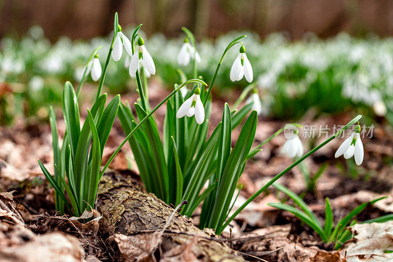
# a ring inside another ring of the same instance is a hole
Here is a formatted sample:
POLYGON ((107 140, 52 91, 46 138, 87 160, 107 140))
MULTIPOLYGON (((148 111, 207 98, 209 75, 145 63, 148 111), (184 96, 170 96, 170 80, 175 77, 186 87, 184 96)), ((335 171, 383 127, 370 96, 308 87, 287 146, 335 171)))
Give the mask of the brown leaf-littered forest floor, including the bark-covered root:
MULTIPOLYGON (((168 93, 158 85, 150 88, 152 105, 168 93)), ((130 93, 122 99, 135 101, 136 97, 137 94, 130 93)), ((221 121, 223 105, 224 101, 214 100, 211 126, 221 121)), ((165 107, 156 113, 159 126, 162 126, 164 114, 165 107)), ((61 115, 60 110, 58 115, 61 115)), ((350 111, 335 116, 306 114, 298 122, 334 126, 347 123, 353 115, 355 113, 350 111)), ((335 139, 305 160, 311 174, 323 163, 328 163, 314 192, 306 192, 298 167, 280 179, 280 183, 304 195, 305 202, 321 223, 324 222, 325 197, 331 200, 335 223, 357 205, 384 195, 388 198, 367 207, 356 219, 365 221, 393 212, 393 131, 384 120, 377 120, 372 138, 362 139, 365 160, 360 167, 334 158, 343 140, 335 139)), ((57 124, 60 135, 64 134, 62 121, 57 124)), ((285 124, 259 117, 254 145, 285 124)), ((238 132, 235 130, 232 137, 236 138, 238 132)), ((123 138, 116 120, 103 162, 123 138)), ((302 138, 302 141, 307 150, 324 139, 302 138)), ((235 208, 292 163, 280 152, 284 142, 282 135, 274 138, 248 162, 240 178, 243 189, 235 208)), ((231 235, 225 231, 222 236, 216 236, 211 230, 197 229, 198 210, 192 218, 175 212, 169 220, 172 207, 147 193, 138 173, 128 170, 126 156, 132 157, 128 145, 115 157, 111 171, 100 183, 97 210, 85 212, 79 218, 60 216, 54 211, 54 190, 36 162, 41 159, 48 170, 53 171, 51 143, 48 123, 21 119, 13 127, 0 127, 0 261, 341 262, 392 259, 391 253, 381 253, 380 248, 393 250, 392 223, 371 224, 371 228, 375 228, 373 232, 370 228, 362 228, 361 224, 355 225, 351 228, 353 240, 341 250, 332 251, 334 244, 324 244, 291 213, 266 205, 285 200, 274 188, 256 198, 232 221, 231 235), (374 241, 367 240, 370 238, 374 241)), ((292 204, 290 200, 286 203, 292 204)))

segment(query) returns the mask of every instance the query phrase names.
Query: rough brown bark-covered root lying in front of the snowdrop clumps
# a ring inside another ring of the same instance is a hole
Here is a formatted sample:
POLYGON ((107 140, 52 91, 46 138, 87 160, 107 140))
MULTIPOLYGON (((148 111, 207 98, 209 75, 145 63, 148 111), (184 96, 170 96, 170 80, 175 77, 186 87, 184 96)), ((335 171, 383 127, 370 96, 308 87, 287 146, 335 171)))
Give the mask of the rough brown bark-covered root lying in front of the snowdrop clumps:
POLYGON ((173 209, 130 176, 104 176, 97 206, 103 214, 100 228, 107 242, 120 250, 119 260, 244 261, 223 242, 213 240, 217 236, 212 230, 199 230, 178 212, 160 234, 173 209))

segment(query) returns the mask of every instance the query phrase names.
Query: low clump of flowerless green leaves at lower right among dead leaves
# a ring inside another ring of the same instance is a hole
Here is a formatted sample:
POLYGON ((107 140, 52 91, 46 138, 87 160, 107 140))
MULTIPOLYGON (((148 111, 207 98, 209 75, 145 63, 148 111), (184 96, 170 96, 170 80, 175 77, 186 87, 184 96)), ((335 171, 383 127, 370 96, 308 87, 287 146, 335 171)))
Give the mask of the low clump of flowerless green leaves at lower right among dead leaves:
MULTIPOLYGON (((351 238, 350 231, 346 229, 347 226, 352 226, 357 223, 355 217, 361 213, 367 206, 374 204, 375 202, 384 199, 386 197, 380 197, 369 202, 362 203, 355 209, 353 209, 349 214, 341 218, 336 226, 334 225, 333 221, 333 210, 330 205, 330 200, 327 197, 325 199, 325 224, 322 227, 321 223, 319 222, 318 218, 312 212, 307 204, 293 191, 288 189, 287 187, 279 184, 274 183, 273 186, 277 189, 286 194, 289 198, 291 198, 294 203, 301 209, 297 209, 293 206, 283 204, 283 203, 269 203, 268 206, 275 207, 281 210, 286 210, 294 214, 297 218, 299 218, 302 222, 306 223, 310 228, 312 228, 324 241, 325 243, 335 243, 335 249, 338 249, 345 243, 347 240, 351 238)), ((367 220, 364 223, 371 223, 371 222, 381 222, 386 221, 386 219, 392 219, 392 216, 384 216, 379 219, 372 219, 367 220)))

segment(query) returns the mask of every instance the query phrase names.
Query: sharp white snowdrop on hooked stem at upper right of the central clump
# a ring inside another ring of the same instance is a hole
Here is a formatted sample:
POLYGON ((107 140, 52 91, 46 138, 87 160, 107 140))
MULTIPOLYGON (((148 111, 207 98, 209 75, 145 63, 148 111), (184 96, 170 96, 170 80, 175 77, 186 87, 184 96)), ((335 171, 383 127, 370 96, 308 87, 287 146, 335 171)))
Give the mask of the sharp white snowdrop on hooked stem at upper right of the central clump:
POLYGON ((246 80, 250 83, 253 81, 253 68, 247 58, 246 48, 242 45, 240 47, 239 54, 230 69, 230 79, 233 82, 239 81, 243 78, 243 76, 246 77, 246 80))

